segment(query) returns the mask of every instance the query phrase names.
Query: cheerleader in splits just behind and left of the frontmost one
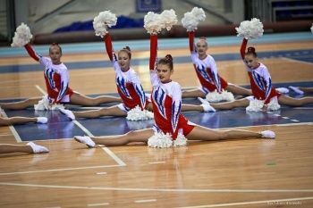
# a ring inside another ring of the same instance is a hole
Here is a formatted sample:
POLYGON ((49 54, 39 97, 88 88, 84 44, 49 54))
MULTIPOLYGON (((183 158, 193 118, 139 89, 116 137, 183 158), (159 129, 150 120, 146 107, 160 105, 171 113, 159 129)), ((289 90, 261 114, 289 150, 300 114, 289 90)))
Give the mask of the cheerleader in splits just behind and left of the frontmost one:
MULTIPOLYGON (((121 96, 123 103, 84 112, 73 112, 64 109, 60 109, 60 111, 66 114, 71 120, 75 120, 76 118, 91 119, 102 116, 128 116, 132 121, 153 119, 152 104, 141 86, 137 72, 131 69, 131 48, 129 46, 123 47, 116 56, 116 54, 114 54, 110 33, 107 32, 106 36, 103 38, 106 44, 106 53, 113 63, 117 92, 121 96), (136 112, 141 111, 140 113, 145 114, 142 115, 140 119, 131 118, 131 115, 128 115, 128 112, 136 107, 139 107, 139 111, 136 112)), ((182 111, 212 112, 212 108, 207 104, 182 104, 182 111)))

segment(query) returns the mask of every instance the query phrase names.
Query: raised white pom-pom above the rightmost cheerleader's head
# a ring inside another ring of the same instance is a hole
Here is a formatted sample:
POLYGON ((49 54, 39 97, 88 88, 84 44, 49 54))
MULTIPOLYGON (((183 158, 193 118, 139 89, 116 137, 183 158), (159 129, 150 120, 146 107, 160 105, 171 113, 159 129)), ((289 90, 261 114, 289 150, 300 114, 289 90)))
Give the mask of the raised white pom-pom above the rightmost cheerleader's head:
POLYGON ((262 37, 264 32, 263 23, 257 18, 252 18, 251 21, 241 21, 239 28, 235 29, 238 37, 245 37, 246 39, 262 37))

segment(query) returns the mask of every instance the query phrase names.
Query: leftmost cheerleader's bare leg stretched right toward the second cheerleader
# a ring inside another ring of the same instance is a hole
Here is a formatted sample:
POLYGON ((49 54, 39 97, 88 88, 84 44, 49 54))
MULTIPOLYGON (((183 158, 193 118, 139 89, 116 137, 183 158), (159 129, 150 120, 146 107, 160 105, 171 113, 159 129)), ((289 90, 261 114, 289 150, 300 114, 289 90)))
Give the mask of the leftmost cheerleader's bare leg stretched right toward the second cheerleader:
POLYGON ((79 104, 83 106, 97 106, 99 104, 107 104, 122 102, 121 97, 117 96, 97 96, 97 97, 89 97, 81 94, 74 93, 70 98, 70 104, 79 104))

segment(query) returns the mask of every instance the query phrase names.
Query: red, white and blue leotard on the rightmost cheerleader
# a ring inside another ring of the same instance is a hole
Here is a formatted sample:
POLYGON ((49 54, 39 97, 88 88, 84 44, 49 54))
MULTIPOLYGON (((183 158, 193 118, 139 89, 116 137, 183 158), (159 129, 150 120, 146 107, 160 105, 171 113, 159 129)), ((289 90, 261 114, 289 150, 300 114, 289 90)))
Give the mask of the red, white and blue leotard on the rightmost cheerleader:
MULTIPOLYGON (((243 38, 241 44, 241 58, 244 62, 244 55, 246 51, 248 40, 243 38)), ((263 63, 259 63, 257 69, 251 70, 246 62, 244 62, 248 75, 250 78, 250 87, 255 99, 264 100, 265 104, 269 104, 271 99, 277 96, 281 96, 275 88, 272 86, 271 75, 269 74, 266 66, 263 63)))

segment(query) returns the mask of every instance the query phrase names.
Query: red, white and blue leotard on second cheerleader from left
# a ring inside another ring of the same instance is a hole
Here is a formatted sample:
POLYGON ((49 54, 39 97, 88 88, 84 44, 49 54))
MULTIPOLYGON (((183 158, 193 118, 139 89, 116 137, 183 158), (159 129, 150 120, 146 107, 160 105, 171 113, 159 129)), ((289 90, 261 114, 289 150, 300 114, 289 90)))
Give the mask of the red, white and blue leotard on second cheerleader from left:
POLYGON ((122 110, 128 112, 137 105, 140 106, 141 110, 147 109, 148 98, 145 96, 138 74, 131 68, 128 71, 121 70, 116 55, 114 54, 110 34, 107 33, 104 39, 106 43, 106 53, 111 62, 113 62, 117 91, 123 100, 122 110))

